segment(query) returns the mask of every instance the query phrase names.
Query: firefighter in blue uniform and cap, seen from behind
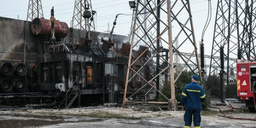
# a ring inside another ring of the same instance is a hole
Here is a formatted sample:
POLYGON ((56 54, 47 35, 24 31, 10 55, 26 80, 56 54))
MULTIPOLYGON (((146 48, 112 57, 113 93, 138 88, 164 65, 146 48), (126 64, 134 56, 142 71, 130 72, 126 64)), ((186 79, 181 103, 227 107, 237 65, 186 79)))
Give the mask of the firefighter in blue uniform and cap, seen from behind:
POLYGON ((199 76, 194 75, 191 78, 192 82, 185 86, 180 101, 182 108, 185 108, 184 128, 190 128, 192 123, 192 116, 194 121, 194 128, 201 128, 201 102, 204 101, 205 93, 202 86, 198 84, 199 76))

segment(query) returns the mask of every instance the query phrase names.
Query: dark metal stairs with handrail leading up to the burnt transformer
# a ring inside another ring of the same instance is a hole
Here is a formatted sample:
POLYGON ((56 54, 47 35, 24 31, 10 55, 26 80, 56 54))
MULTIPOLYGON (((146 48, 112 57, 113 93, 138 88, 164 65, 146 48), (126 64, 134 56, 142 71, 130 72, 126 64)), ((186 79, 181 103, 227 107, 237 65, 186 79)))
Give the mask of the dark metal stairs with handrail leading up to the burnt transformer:
MULTIPOLYGON (((78 78, 79 77, 77 77, 76 80, 78 80, 78 78)), ((80 96, 79 84, 74 85, 76 80, 72 84, 73 88, 69 88, 66 92, 66 97, 62 100, 58 108, 70 108, 76 98, 80 96)))

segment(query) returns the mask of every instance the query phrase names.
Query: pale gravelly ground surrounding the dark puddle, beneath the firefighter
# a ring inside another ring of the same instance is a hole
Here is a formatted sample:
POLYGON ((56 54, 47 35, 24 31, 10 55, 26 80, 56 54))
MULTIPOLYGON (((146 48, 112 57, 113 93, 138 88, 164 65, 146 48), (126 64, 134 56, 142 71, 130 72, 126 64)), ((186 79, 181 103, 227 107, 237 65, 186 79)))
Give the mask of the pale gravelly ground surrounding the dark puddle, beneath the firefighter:
MULTIPOLYGON (((130 108, 103 108, 98 107, 83 107, 83 108, 71 108, 71 109, 31 109, 31 110, 17 110, 4 111, 6 115, 9 114, 24 114, 24 115, 72 115, 76 117, 83 116, 106 116, 106 115, 122 115, 125 117, 139 118, 136 120, 129 119, 116 119, 105 118, 100 122, 76 122, 76 123, 64 123, 54 124, 50 126, 44 126, 42 128, 116 128, 122 126, 123 128, 182 128, 184 125, 183 116, 184 111, 160 111, 160 112, 140 112, 134 111, 130 108)), ((202 115, 202 128, 256 128, 256 122, 250 120, 235 120, 218 116, 220 112, 205 112, 202 115)), ((226 112, 227 116, 239 117, 239 118, 256 118, 255 113, 248 113, 235 111, 226 112)), ((73 119, 72 119, 73 120, 73 119)), ((74 118, 75 120, 75 118, 74 118)))

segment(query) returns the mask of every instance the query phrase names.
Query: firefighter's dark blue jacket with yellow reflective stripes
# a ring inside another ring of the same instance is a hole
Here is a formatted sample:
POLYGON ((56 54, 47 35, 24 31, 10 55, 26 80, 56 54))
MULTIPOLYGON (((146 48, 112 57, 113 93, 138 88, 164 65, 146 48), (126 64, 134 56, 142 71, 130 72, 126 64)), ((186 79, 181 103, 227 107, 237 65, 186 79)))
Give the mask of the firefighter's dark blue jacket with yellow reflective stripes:
POLYGON ((202 86, 197 82, 187 84, 182 91, 180 104, 186 104, 189 109, 202 109, 201 102, 204 101, 205 93, 202 86))

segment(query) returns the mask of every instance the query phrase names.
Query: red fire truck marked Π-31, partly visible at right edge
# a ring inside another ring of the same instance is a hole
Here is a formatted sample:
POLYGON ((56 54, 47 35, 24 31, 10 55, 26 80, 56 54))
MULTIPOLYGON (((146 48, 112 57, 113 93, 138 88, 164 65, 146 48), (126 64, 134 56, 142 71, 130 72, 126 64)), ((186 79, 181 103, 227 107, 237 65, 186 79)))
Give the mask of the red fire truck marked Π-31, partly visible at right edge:
POLYGON ((237 60, 237 96, 246 103, 250 112, 255 112, 256 96, 256 61, 237 60))

